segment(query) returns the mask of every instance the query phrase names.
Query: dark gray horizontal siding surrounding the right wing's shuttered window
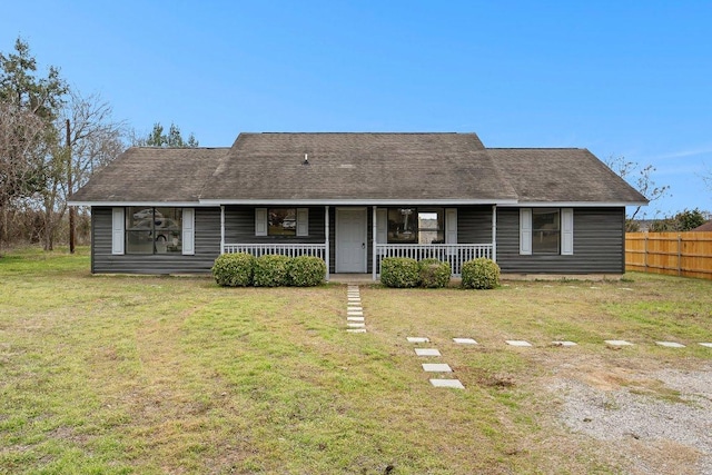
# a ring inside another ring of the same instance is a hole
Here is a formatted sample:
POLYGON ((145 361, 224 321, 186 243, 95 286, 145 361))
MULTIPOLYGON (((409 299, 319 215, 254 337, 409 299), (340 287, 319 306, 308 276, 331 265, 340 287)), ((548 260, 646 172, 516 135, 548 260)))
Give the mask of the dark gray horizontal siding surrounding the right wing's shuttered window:
POLYGON ((520 255, 520 209, 497 208, 497 264, 512 274, 623 274, 625 208, 574 208, 573 256, 520 255))

